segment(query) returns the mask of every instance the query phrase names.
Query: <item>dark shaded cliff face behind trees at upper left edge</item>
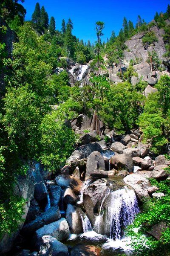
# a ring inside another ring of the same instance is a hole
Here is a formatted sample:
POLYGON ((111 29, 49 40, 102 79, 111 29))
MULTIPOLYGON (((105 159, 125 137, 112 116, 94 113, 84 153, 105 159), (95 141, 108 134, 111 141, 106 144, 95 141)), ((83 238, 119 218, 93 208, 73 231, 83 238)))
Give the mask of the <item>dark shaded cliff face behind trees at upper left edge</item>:
MULTIPOLYGON (((6 44, 6 52, 7 57, 11 58, 11 53, 13 49, 13 43, 16 43, 18 41, 17 34, 14 32, 14 30, 10 29, 8 24, 5 20, 3 20, 2 17, 0 17, 0 27, 5 26, 7 27, 6 34, 3 35, 0 33, 0 42, 6 44)), ((5 71, 0 72, 0 90, 4 90, 5 82, 4 82, 4 76, 5 71)))

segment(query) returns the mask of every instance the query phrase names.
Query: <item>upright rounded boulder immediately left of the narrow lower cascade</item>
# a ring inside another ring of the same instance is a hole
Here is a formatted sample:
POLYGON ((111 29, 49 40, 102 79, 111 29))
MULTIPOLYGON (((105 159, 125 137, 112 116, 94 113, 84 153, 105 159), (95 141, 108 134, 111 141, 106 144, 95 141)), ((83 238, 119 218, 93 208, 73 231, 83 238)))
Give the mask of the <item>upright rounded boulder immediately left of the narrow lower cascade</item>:
POLYGON ((71 234, 83 233, 82 218, 78 207, 68 204, 65 218, 68 222, 71 234))

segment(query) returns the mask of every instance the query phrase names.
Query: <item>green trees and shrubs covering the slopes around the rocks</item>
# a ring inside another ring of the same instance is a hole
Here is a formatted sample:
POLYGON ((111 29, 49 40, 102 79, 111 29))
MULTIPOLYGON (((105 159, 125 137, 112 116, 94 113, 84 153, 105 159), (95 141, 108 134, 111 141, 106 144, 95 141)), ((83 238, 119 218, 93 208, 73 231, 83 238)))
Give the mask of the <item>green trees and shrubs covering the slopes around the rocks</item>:
MULTIPOLYGON (((121 68, 123 50, 127 49, 125 41, 138 32, 144 32, 143 44, 157 41, 155 33, 149 30, 154 23, 147 24, 138 15, 134 26, 124 17, 119 35, 112 31, 107 42, 102 43, 105 24, 97 21, 94 25, 96 43, 91 44, 88 40, 86 44, 72 34, 74 24, 71 18, 67 23, 62 20, 61 30, 56 30, 54 17, 49 20, 45 7, 39 3, 36 3, 32 19, 24 21, 26 10, 23 2, 4 0, 0 3, 1 17, 18 35, 12 58, 7 57, 6 45, 0 42, 0 67, 6 73, 6 87, 1 91, 0 100, 1 236, 4 232, 16 230, 23 214, 24 200, 13 194, 13 188, 17 175, 26 175, 28 160, 40 161, 48 171, 57 173, 78 144, 79 137, 65 125, 65 119, 71 120, 79 114, 91 116, 95 112, 105 127, 114 128, 118 134, 139 127, 144 132, 143 142, 149 141, 150 150, 157 154, 166 151, 170 138, 170 77, 161 76, 155 85, 157 92, 146 98, 143 91, 147 83, 142 79, 136 85, 131 83, 131 77, 138 76, 133 65, 140 60, 130 60, 127 70, 121 68), (103 58, 105 55, 107 63, 103 58), (74 87, 70 86, 65 58, 79 64, 91 61, 89 84, 80 87, 77 81, 74 87), (122 82, 118 84, 113 84, 107 76, 99 75, 99 70, 106 70, 106 65, 112 69, 113 64, 119 65, 117 76, 122 82), (56 68, 64 71, 57 76, 56 68)), ((170 65, 170 25, 165 20, 169 18, 170 5, 164 14, 156 12, 154 17, 157 26, 165 31, 167 67, 170 65)), ((6 31, 6 26, 0 27, 1 35, 6 31)), ((150 52, 148 63, 152 70, 165 70, 156 52, 150 52)), ((144 201, 142 213, 133 225, 139 228, 139 232, 134 233, 130 227, 138 255, 170 251, 169 180, 159 184, 154 180, 150 182, 159 186, 166 196, 144 201), (143 226, 147 221, 148 226, 143 226), (167 224, 162 240, 143 239, 143 232, 160 221, 167 224), (144 247, 146 240, 147 247, 144 247)))

